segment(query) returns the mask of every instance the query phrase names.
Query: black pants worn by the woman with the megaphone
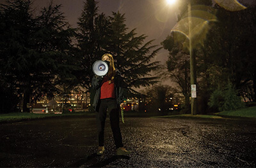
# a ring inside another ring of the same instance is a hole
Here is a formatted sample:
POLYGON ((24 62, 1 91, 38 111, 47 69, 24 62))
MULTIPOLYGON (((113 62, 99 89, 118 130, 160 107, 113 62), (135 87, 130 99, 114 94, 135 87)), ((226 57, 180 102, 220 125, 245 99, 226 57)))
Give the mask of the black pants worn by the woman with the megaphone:
POLYGON ((111 129, 113 132, 116 148, 123 147, 122 136, 119 127, 119 111, 116 99, 100 99, 99 112, 96 112, 99 146, 104 146, 104 127, 109 112, 111 129))

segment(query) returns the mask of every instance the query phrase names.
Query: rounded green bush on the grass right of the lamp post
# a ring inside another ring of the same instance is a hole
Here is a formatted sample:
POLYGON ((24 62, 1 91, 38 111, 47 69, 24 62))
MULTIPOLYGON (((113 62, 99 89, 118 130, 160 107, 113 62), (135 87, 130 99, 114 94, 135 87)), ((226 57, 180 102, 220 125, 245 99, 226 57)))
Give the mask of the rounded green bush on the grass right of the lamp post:
POLYGON ((228 111, 244 107, 241 97, 231 83, 227 84, 223 90, 215 90, 209 99, 208 105, 211 108, 217 108, 218 111, 228 111))

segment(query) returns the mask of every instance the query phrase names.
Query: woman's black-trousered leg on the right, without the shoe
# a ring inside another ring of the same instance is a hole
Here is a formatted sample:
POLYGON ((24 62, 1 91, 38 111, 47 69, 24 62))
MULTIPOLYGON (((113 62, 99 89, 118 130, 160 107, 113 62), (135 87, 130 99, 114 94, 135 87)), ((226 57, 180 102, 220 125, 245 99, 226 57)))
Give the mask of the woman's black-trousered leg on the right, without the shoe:
POLYGON ((108 101, 108 111, 116 148, 123 147, 124 145, 122 143, 122 135, 119 127, 119 111, 115 99, 110 99, 108 101))

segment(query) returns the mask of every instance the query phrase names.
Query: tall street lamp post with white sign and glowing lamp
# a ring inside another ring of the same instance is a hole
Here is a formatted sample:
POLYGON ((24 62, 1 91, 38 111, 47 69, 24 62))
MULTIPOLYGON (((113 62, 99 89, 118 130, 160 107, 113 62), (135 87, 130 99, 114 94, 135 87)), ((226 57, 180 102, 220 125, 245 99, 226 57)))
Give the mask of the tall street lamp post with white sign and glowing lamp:
MULTIPOLYGON (((166 0, 168 4, 175 3, 175 0, 166 0)), ((188 38, 189 38, 189 61, 190 61, 190 84, 191 84, 191 115, 196 115, 196 59, 193 51, 191 36, 191 2, 188 3, 188 38)))

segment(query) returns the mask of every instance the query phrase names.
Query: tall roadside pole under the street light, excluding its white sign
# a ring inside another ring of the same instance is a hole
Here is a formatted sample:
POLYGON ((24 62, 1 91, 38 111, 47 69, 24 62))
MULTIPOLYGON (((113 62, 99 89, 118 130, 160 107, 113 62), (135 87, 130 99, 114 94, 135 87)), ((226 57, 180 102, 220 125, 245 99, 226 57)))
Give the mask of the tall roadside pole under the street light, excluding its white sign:
MULTIPOLYGON (((196 85, 196 71, 195 71, 195 54, 193 53, 193 41, 191 38, 191 3, 188 4, 188 20, 189 20, 189 56, 190 56, 190 84, 196 85)), ((191 86, 192 88, 192 86, 191 86)), ((191 94, 191 115, 196 115, 196 97, 191 94)))

